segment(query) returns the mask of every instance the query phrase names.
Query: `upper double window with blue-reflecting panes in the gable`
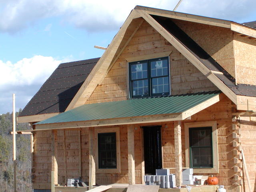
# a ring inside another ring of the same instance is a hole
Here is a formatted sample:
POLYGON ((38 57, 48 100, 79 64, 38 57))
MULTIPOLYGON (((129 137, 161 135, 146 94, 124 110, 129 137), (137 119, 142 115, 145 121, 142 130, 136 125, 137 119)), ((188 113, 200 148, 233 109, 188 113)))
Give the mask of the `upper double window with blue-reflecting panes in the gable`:
POLYGON ((168 57, 129 63, 132 98, 170 94, 168 57))

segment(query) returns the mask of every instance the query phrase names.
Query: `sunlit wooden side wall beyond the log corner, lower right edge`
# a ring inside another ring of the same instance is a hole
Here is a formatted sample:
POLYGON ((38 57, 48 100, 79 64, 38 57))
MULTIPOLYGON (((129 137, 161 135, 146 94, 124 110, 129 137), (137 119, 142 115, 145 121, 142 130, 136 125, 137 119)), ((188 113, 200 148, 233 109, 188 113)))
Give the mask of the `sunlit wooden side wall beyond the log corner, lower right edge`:
MULTIPOLYGON (((256 122, 250 122, 250 118, 240 121, 241 145, 244 151, 247 170, 250 177, 252 190, 256 190, 256 122)), ((249 191, 245 182, 245 191, 249 191)))

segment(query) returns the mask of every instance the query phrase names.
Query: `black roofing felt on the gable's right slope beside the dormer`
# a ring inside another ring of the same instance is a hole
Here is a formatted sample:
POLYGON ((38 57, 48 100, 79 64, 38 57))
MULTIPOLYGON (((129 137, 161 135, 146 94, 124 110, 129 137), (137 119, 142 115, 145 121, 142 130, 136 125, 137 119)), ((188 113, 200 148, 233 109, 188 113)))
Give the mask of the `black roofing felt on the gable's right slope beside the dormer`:
POLYGON ((151 15, 162 27, 174 36, 190 53, 192 53, 209 70, 222 72, 216 75, 230 90, 237 95, 256 96, 256 86, 248 84, 235 84, 232 77, 220 64, 218 64, 203 48, 183 32, 170 18, 151 15))

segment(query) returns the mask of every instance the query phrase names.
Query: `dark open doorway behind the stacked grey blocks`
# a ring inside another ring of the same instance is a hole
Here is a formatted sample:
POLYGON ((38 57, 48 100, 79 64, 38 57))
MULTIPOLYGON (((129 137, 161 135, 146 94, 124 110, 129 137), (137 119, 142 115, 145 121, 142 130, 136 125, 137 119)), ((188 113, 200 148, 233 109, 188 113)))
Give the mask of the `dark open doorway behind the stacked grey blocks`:
POLYGON ((162 168, 161 126, 145 126, 142 128, 145 174, 155 175, 156 169, 162 168))

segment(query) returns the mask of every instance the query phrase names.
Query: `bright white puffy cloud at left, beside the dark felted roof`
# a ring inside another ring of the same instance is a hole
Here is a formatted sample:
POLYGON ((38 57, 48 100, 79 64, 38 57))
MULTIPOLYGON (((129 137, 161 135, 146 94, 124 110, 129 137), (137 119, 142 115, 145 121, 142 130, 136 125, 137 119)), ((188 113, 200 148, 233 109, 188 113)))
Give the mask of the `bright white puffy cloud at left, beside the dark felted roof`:
POLYGON ((0 90, 8 86, 43 84, 60 62, 40 55, 24 58, 14 64, 0 60, 0 90))

